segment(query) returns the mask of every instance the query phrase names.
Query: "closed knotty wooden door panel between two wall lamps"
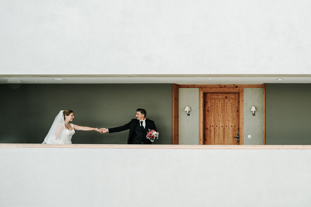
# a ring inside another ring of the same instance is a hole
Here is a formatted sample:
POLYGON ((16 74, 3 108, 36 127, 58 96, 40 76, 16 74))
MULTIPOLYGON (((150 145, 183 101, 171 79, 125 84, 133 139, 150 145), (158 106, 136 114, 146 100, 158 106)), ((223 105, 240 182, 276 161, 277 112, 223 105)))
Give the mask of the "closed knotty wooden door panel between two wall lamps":
POLYGON ((238 145, 239 93, 205 93, 205 144, 238 145))

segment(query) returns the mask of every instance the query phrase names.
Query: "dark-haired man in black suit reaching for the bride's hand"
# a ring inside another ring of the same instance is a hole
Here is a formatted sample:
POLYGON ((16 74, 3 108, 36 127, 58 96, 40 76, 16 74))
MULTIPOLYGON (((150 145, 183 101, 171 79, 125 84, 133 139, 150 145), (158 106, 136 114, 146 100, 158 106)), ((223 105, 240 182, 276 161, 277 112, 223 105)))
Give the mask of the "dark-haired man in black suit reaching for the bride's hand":
POLYGON ((156 130, 155 122, 146 119, 146 110, 137 109, 136 119, 132 119, 129 123, 114 128, 101 128, 103 133, 121 132, 130 129, 128 133, 128 144, 151 144, 151 141, 146 138, 147 132, 150 130, 156 130))

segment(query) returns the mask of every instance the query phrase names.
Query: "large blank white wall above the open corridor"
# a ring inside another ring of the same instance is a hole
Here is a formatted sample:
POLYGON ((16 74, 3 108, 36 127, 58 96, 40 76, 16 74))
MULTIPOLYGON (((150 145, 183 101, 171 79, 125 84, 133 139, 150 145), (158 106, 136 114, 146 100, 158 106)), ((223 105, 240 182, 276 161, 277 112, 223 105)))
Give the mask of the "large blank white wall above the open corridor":
POLYGON ((309 74, 311 2, 0 1, 1 74, 309 74))

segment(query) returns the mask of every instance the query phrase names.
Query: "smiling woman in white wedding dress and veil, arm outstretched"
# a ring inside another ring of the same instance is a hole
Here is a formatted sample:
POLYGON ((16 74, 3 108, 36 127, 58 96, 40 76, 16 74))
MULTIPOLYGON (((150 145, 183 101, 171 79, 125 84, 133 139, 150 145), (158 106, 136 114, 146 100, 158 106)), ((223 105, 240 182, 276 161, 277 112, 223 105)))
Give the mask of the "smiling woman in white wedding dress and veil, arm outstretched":
POLYGON ((69 123, 74 118, 72 110, 61 110, 55 117, 54 122, 42 144, 71 144, 71 137, 75 130, 101 132, 101 129, 82 127, 69 123))

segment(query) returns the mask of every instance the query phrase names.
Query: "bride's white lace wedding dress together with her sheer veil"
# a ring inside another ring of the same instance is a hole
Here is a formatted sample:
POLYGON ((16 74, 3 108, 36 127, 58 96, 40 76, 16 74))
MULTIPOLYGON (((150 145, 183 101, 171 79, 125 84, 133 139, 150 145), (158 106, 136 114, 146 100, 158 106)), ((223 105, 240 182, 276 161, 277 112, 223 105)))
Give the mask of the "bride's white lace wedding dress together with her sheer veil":
POLYGON ((46 135, 42 144, 72 144, 71 138, 75 133, 73 124, 70 123, 72 130, 65 127, 63 110, 55 117, 54 122, 46 135))

